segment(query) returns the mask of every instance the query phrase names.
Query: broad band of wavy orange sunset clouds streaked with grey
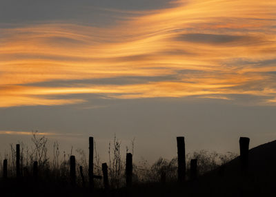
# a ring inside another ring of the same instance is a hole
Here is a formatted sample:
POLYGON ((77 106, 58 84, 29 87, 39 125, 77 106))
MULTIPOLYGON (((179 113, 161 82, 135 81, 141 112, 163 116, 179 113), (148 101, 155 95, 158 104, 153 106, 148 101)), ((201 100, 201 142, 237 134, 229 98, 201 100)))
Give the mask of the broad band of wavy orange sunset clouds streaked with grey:
POLYGON ((175 1, 106 28, 1 28, 0 107, 83 103, 82 94, 231 102, 248 94, 273 105, 275 10, 273 1, 175 1))

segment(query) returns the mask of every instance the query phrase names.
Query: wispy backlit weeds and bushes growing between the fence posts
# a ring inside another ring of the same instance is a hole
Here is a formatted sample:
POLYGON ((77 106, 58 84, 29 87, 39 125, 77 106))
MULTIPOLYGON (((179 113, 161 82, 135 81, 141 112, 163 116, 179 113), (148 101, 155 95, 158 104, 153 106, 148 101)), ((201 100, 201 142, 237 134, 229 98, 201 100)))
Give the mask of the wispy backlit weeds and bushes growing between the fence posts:
MULTIPOLYGON (((23 177, 32 176, 32 164, 34 161, 39 165, 39 179, 47 180, 51 183, 68 184, 70 182, 70 154, 61 152, 59 143, 55 142, 52 147, 52 157, 49 156, 48 138, 39 135, 38 132, 32 134, 32 145, 20 143, 21 147, 21 174, 23 177)), ((94 172, 101 175, 101 161, 97 153, 95 144, 95 161, 94 172)), ((128 148, 126 152, 128 152, 128 148)), ((79 167, 83 167, 83 174, 88 183, 88 159, 83 149, 76 149, 77 152, 77 185, 81 187, 81 176, 79 167)), ((132 141, 131 152, 134 152, 134 140, 132 141)), ((120 188, 125 185, 125 159, 121 155, 121 142, 114 137, 114 140, 109 143, 108 148, 108 178, 111 188, 120 188)), ((218 154, 217 152, 208 152, 201 150, 186 155, 187 172, 190 169, 190 160, 197 158, 199 175, 213 170, 219 165, 222 165, 229 160, 232 160, 237 155, 228 152, 227 154, 218 154)), ((14 145, 10 145, 10 153, 5 155, 8 159, 8 177, 16 176, 16 151, 14 145)), ((3 158, 1 158, 3 161, 3 158)), ((2 171, 2 166, 1 166, 2 171)), ((188 174, 188 173, 187 173, 188 174)), ((161 181, 162 175, 166 176, 166 182, 174 183, 177 181, 177 157, 167 160, 159 158, 155 163, 149 165, 146 160, 141 160, 137 165, 133 165, 133 182, 139 183, 158 183, 161 181)), ((95 187, 101 188, 102 180, 95 180, 95 187)))

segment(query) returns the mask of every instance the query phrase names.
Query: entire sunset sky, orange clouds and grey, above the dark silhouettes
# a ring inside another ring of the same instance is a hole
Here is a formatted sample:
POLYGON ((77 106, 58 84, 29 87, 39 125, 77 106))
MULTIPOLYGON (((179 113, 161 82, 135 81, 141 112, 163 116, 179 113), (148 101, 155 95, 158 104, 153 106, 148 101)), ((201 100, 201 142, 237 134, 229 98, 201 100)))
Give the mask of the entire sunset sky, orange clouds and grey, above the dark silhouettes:
MULTIPOLYGON (((276 1, 1 0, 0 148, 32 130, 106 158, 276 139, 276 1)), ((3 154, 3 151, 2 151, 3 154)))

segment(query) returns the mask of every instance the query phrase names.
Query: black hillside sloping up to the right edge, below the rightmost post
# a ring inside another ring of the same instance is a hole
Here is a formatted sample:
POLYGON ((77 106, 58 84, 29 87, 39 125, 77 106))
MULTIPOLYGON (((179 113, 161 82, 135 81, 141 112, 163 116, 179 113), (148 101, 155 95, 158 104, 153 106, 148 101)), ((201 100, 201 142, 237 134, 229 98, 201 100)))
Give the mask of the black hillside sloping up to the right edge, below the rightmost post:
POLYGON ((250 149, 248 160, 247 172, 237 157, 200 177, 196 187, 205 196, 276 196, 276 141, 250 149))

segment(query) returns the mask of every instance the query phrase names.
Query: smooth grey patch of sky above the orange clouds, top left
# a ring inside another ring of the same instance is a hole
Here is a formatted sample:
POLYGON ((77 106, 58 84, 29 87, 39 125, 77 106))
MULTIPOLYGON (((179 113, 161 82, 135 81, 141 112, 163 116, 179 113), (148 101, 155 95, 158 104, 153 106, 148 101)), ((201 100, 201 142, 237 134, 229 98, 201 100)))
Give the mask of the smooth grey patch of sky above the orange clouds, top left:
MULTIPOLYGON (((1 0, 1 23, 78 21, 94 25, 112 24, 126 15, 124 10, 153 10, 171 0, 1 0), (118 10, 118 12, 117 12, 118 10), (119 11, 121 10, 121 11, 119 11)), ((128 12, 131 14, 131 12, 128 12)))

